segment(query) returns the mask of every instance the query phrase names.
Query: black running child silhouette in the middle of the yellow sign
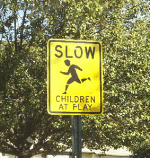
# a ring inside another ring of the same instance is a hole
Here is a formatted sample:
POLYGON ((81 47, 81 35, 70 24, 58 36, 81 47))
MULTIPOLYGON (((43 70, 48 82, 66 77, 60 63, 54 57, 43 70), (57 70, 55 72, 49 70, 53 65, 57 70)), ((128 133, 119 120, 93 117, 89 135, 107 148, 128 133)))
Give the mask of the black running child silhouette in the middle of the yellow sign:
MULTIPOLYGON (((70 66, 70 60, 65 60, 64 62, 65 62, 65 64, 66 64, 67 66, 70 66)), ((64 92, 63 94, 67 94, 67 89, 68 89, 68 87, 69 87, 69 84, 71 84, 72 82, 76 81, 77 83, 80 83, 80 84, 81 84, 82 82, 84 82, 84 81, 86 81, 86 80, 91 80, 91 79, 88 77, 88 78, 85 78, 85 79, 81 79, 81 81, 80 81, 80 79, 79 79, 79 77, 78 77, 78 75, 77 75, 76 69, 82 71, 82 69, 81 69, 79 66, 77 66, 77 65, 71 65, 71 66, 69 67, 68 72, 62 72, 62 71, 60 71, 60 73, 62 73, 62 74, 64 74, 64 75, 69 75, 69 74, 71 74, 71 76, 72 76, 72 77, 67 81, 66 88, 65 88, 65 92, 64 92)))

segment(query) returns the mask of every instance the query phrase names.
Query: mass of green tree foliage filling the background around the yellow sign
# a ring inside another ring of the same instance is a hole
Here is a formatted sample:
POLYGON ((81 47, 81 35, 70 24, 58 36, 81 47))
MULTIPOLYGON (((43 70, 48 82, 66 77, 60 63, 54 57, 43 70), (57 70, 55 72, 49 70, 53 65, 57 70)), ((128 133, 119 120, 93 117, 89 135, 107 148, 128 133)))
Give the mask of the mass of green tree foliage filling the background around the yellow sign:
POLYGON ((49 38, 103 43, 105 111, 102 116, 82 116, 83 145, 103 150, 106 146, 125 145, 136 151, 148 144, 148 3, 146 0, 1 1, 1 152, 31 157, 40 153, 41 148, 56 154, 71 146, 70 117, 51 116, 46 111, 49 38), (29 137, 34 142, 28 142, 29 137))

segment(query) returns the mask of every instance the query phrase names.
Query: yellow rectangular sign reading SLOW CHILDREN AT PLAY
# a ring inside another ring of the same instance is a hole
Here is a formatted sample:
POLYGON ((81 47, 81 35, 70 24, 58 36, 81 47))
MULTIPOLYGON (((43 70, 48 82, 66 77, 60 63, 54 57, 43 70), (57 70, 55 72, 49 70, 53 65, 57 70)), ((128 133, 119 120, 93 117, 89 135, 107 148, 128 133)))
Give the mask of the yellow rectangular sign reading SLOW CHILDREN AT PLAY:
POLYGON ((50 39, 47 50, 48 113, 102 114, 101 42, 50 39))

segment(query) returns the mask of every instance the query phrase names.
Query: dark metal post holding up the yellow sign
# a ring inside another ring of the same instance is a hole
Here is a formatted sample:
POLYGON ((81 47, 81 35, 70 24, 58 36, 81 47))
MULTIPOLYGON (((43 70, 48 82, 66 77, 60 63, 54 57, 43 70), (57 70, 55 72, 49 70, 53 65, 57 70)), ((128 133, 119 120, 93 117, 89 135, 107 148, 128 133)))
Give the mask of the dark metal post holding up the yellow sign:
POLYGON ((81 116, 72 115, 71 116, 71 125, 72 125, 72 158, 82 158, 81 153, 81 116))

